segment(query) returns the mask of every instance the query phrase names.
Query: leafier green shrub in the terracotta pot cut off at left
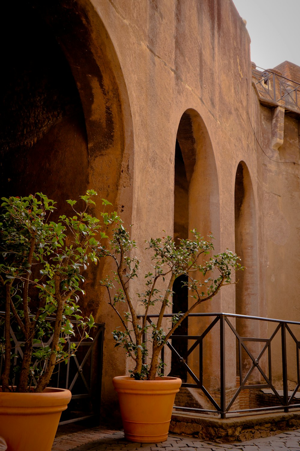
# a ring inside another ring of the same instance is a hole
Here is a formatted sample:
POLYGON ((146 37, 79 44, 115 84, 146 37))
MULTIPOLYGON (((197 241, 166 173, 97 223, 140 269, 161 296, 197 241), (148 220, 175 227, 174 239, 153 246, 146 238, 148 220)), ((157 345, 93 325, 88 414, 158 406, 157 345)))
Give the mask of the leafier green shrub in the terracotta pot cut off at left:
POLYGON ((76 352, 75 345, 66 349, 66 336, 77 329, 81 339, 89 337, 94 324, 93 316, 84 318, 78 306, 82 273, 90 262, 97 263, 97 238, 106 237, 99 219, 88 212, 94 195, 89 190, 81 196, 79 212, 76 201, 67 200, 74 215, 59 216, 58 222, 51 220, 55 202, 42 193, 2 198, 0 436, 9 451, 50 451, 60 414, 71 399, 70 391, 47 387, 55 364, 76 352), (11 333, 23 342, 17 366, 11 333), (45 336, 52 337, 49 346, 42 343, 45 336))

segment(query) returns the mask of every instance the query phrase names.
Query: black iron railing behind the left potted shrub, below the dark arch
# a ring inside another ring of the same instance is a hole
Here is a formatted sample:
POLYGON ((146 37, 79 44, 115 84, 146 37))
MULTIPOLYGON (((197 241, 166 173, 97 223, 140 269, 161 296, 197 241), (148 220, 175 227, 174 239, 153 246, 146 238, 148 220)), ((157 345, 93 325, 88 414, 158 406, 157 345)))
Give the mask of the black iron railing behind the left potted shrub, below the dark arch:
MULTIPOLYGON (((0 316, 4 313, 0 312, 0 316)), ((47 318, 54 321, 53 318, 47 318)), ((71 321, 76 330, 76 322, 71 321)), ((4 336, 4 330, 0 330, 4 336)), ((10 328, 12 337, 12 354, 15 354, 13 365, 20 364, 23 357, 23 341, 14 330, 10 328)), ((67 363, 59 363, 54 369, 49 386, 67 388, 72 392, 72 399, 68 409, 63 412, 59 424, 72 423, 87 418, 99 417, 101 399, 101 376, 103 361, 103 336, 104 324, 95 324, 89 335, 93 338, 83 339, 80 343, 78 337, 66 338, 66 350, 71 350, 72 343, 78 345, 76 355, 67 360, 67 363)), ((52 336, 43 340, 44 346, 49 346, 52 336)), ((34 345, 35 346, 35 345, 34 345)), ((40 346, 36 345, 36 346, 40 346)), ((3 356, 0 357, 0 374, 2 374, 3 356)), ((14 383, 14 380, 12 381, 14 383)))

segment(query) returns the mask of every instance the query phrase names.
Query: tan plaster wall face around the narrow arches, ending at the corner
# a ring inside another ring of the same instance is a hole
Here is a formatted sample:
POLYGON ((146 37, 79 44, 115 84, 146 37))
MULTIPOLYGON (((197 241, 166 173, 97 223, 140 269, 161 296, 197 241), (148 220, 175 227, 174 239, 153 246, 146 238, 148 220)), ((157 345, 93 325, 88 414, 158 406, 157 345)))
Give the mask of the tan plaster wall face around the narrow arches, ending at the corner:
MULTIPOLYGON (((134 238, 143 243, 149 230, 152 236, 162 230, 173 233, 176 134, 184 112, 194 110, 201 120, 193 122, 196 163, 189 184, 189 228, 204 235, 211 231, 216 252, 234 249, 237 166, 245 161, 256 202, 261 159, 249 120, 257 99, 251 96, 250 38, 242 19, 230 1, 93 5, 112 39, 128 89, 134 238)), ((235 312, 234 286, 203 308, 235 312)), ((196 324, 190 327, 199 331, 196 324)), ((206 359, 218 366, 219 359, 209 351, 214 337, 207 340, 206 359)), ((230 377, 231 386, 235 370, 230 377)))

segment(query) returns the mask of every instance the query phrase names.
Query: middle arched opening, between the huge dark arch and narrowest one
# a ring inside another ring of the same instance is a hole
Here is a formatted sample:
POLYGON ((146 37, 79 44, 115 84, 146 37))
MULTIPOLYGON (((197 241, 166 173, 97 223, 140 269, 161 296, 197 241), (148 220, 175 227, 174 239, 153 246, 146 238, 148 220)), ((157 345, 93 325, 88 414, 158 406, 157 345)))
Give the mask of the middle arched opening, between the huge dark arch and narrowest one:
MULTIPOLYGON (((199 113, 194 109, 188 109, 182 115, 175 145, 175 189, 174 189, 174 236, 175 238, 191 237, 191 229, 197 229, 206 237, 213 233, 215 236, 215 250, 219 249, 220 242, 220 208, 219 208, 219 181, 215 155, 210 140, 209 132, 199 113)), ((184 311, 190 303, 187 299, 188 291, 182 289, 180 295, 176 295, 179 286, 173 287, 175 302, 173 311, 184 311), (183 304, 184 303, 184 308, 183 304)), ((219 295, 213 301, 203 303, 197 308, 197 312, 219 311, 219 295)), ((210 324, 211 318, 189 318, 186 329, 188 335, 201 335, 210 324)), ((185 335, 185 330, 183 335, 185 335)), ((178 332, 180 333, 180 331, 178 332)), ((203 374, 206 387, 212 389, 219 386, 219 378, 216 362, 218 354, 219 333, 207 334, 203 346, 203 359, 206 369, 203 374), (215 368, 215 372, 214 372, 215 368)), ((189 343, 191 345, 191 343, 189 343)), ((184 355, 186 347, 182 342, 179 354, 184 355)), ((193 372, 199 375, 199 350, 196 349, 188 357, 188 365, 193 372)), ((173 360, 172 370, 179 371, 173 360)))

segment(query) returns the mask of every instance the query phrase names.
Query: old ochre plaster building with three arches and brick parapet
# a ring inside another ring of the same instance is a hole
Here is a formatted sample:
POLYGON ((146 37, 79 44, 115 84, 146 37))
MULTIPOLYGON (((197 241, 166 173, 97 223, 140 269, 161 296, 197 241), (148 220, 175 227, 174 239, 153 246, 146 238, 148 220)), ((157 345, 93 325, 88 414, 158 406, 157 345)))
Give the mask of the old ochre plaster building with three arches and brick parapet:
MULTIPOLYGON (((247 269, 205 311, 300 321, 300 67, 257 70, 232 0, 27 0, 3 18, 1 194, 62 208, 93 188, 139 243, 211 231, 247 269)), ((107 405, 127 362, 93 271, 107 405)))

